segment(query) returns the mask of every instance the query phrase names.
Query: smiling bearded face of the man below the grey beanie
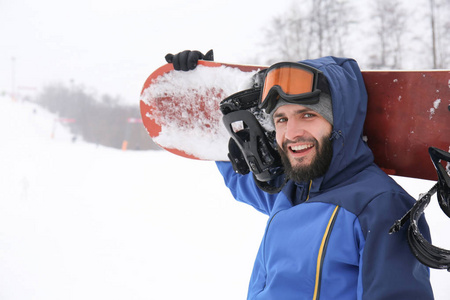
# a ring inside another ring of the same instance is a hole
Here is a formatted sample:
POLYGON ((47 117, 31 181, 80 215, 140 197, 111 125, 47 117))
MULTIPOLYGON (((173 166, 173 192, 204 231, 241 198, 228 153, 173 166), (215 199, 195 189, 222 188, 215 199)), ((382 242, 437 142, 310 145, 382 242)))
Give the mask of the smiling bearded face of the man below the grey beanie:
POLYGON ((331 124, 298 104, 279 107, 273 114, 276 140, 286 174, 309 181, 325 174, 331 162, 331 124))

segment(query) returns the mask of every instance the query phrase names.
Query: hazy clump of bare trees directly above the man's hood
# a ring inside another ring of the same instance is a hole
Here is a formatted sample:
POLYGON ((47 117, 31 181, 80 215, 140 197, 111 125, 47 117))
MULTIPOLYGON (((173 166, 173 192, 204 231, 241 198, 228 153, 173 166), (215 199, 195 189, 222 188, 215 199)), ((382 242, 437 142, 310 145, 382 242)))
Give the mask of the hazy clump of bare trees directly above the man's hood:
POLYGON ((346 0, 294 2, 264 31, 265 63, 300 60, 345 52, 351 11, 346 0))

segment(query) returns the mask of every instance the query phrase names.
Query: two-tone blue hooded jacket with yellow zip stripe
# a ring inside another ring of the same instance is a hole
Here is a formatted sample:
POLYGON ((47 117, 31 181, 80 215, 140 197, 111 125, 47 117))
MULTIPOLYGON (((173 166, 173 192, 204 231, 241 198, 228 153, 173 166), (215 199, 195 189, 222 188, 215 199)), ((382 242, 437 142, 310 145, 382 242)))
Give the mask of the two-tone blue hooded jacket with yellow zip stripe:
MULTIPOLYGON (((393 222, 415 200, 373 163, 362 139, 367 93, 357 63, 303 61, 327 77, 333 104, 333 158, 311 183, 279 194, 217 162, 233 196, 269 216, 248 299, 433 299, 429 270, 412 255, 406 226, 393 222)), ((420 229, 430 239, 424 218, 420 229)))

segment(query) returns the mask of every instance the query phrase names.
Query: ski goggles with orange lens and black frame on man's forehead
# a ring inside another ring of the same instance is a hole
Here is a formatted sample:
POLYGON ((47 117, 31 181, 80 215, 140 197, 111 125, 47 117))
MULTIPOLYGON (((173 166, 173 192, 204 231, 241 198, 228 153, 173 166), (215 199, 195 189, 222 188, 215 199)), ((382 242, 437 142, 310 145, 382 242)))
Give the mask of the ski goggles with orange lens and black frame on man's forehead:
POLYGON ((277 63, 265 71, 259 108, 270 113, 280 97, 293 104, 316 104, 321 92, 330 93, 318 69, 302 63, 277 63))

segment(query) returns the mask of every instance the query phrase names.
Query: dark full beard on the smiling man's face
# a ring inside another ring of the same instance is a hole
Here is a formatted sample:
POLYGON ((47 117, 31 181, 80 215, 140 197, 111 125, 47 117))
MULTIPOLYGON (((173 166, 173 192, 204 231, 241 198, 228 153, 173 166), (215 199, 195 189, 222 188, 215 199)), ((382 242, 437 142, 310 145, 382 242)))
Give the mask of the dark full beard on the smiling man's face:
MULTIPOLYGON (((305 166, 292 166, 292 163, 286 154, 289 151, 286 142, 283 143, 282 149, 278 147, 278 152, 280 153, 281 161, 284 166, 284 172, 289 179, 292 179, 295 182, 308 182, 315 178, 321 177, 325 175, 330 166, 331 158, 333 157, 331 135, 324 136, 320 144, 316 139, 312 139, 309 142, 313 142, 314 147, 318 150, 312 162, 309 165, 305 166)), ((303 158, 297 158, 295 160, 301 163, 303 158)))

